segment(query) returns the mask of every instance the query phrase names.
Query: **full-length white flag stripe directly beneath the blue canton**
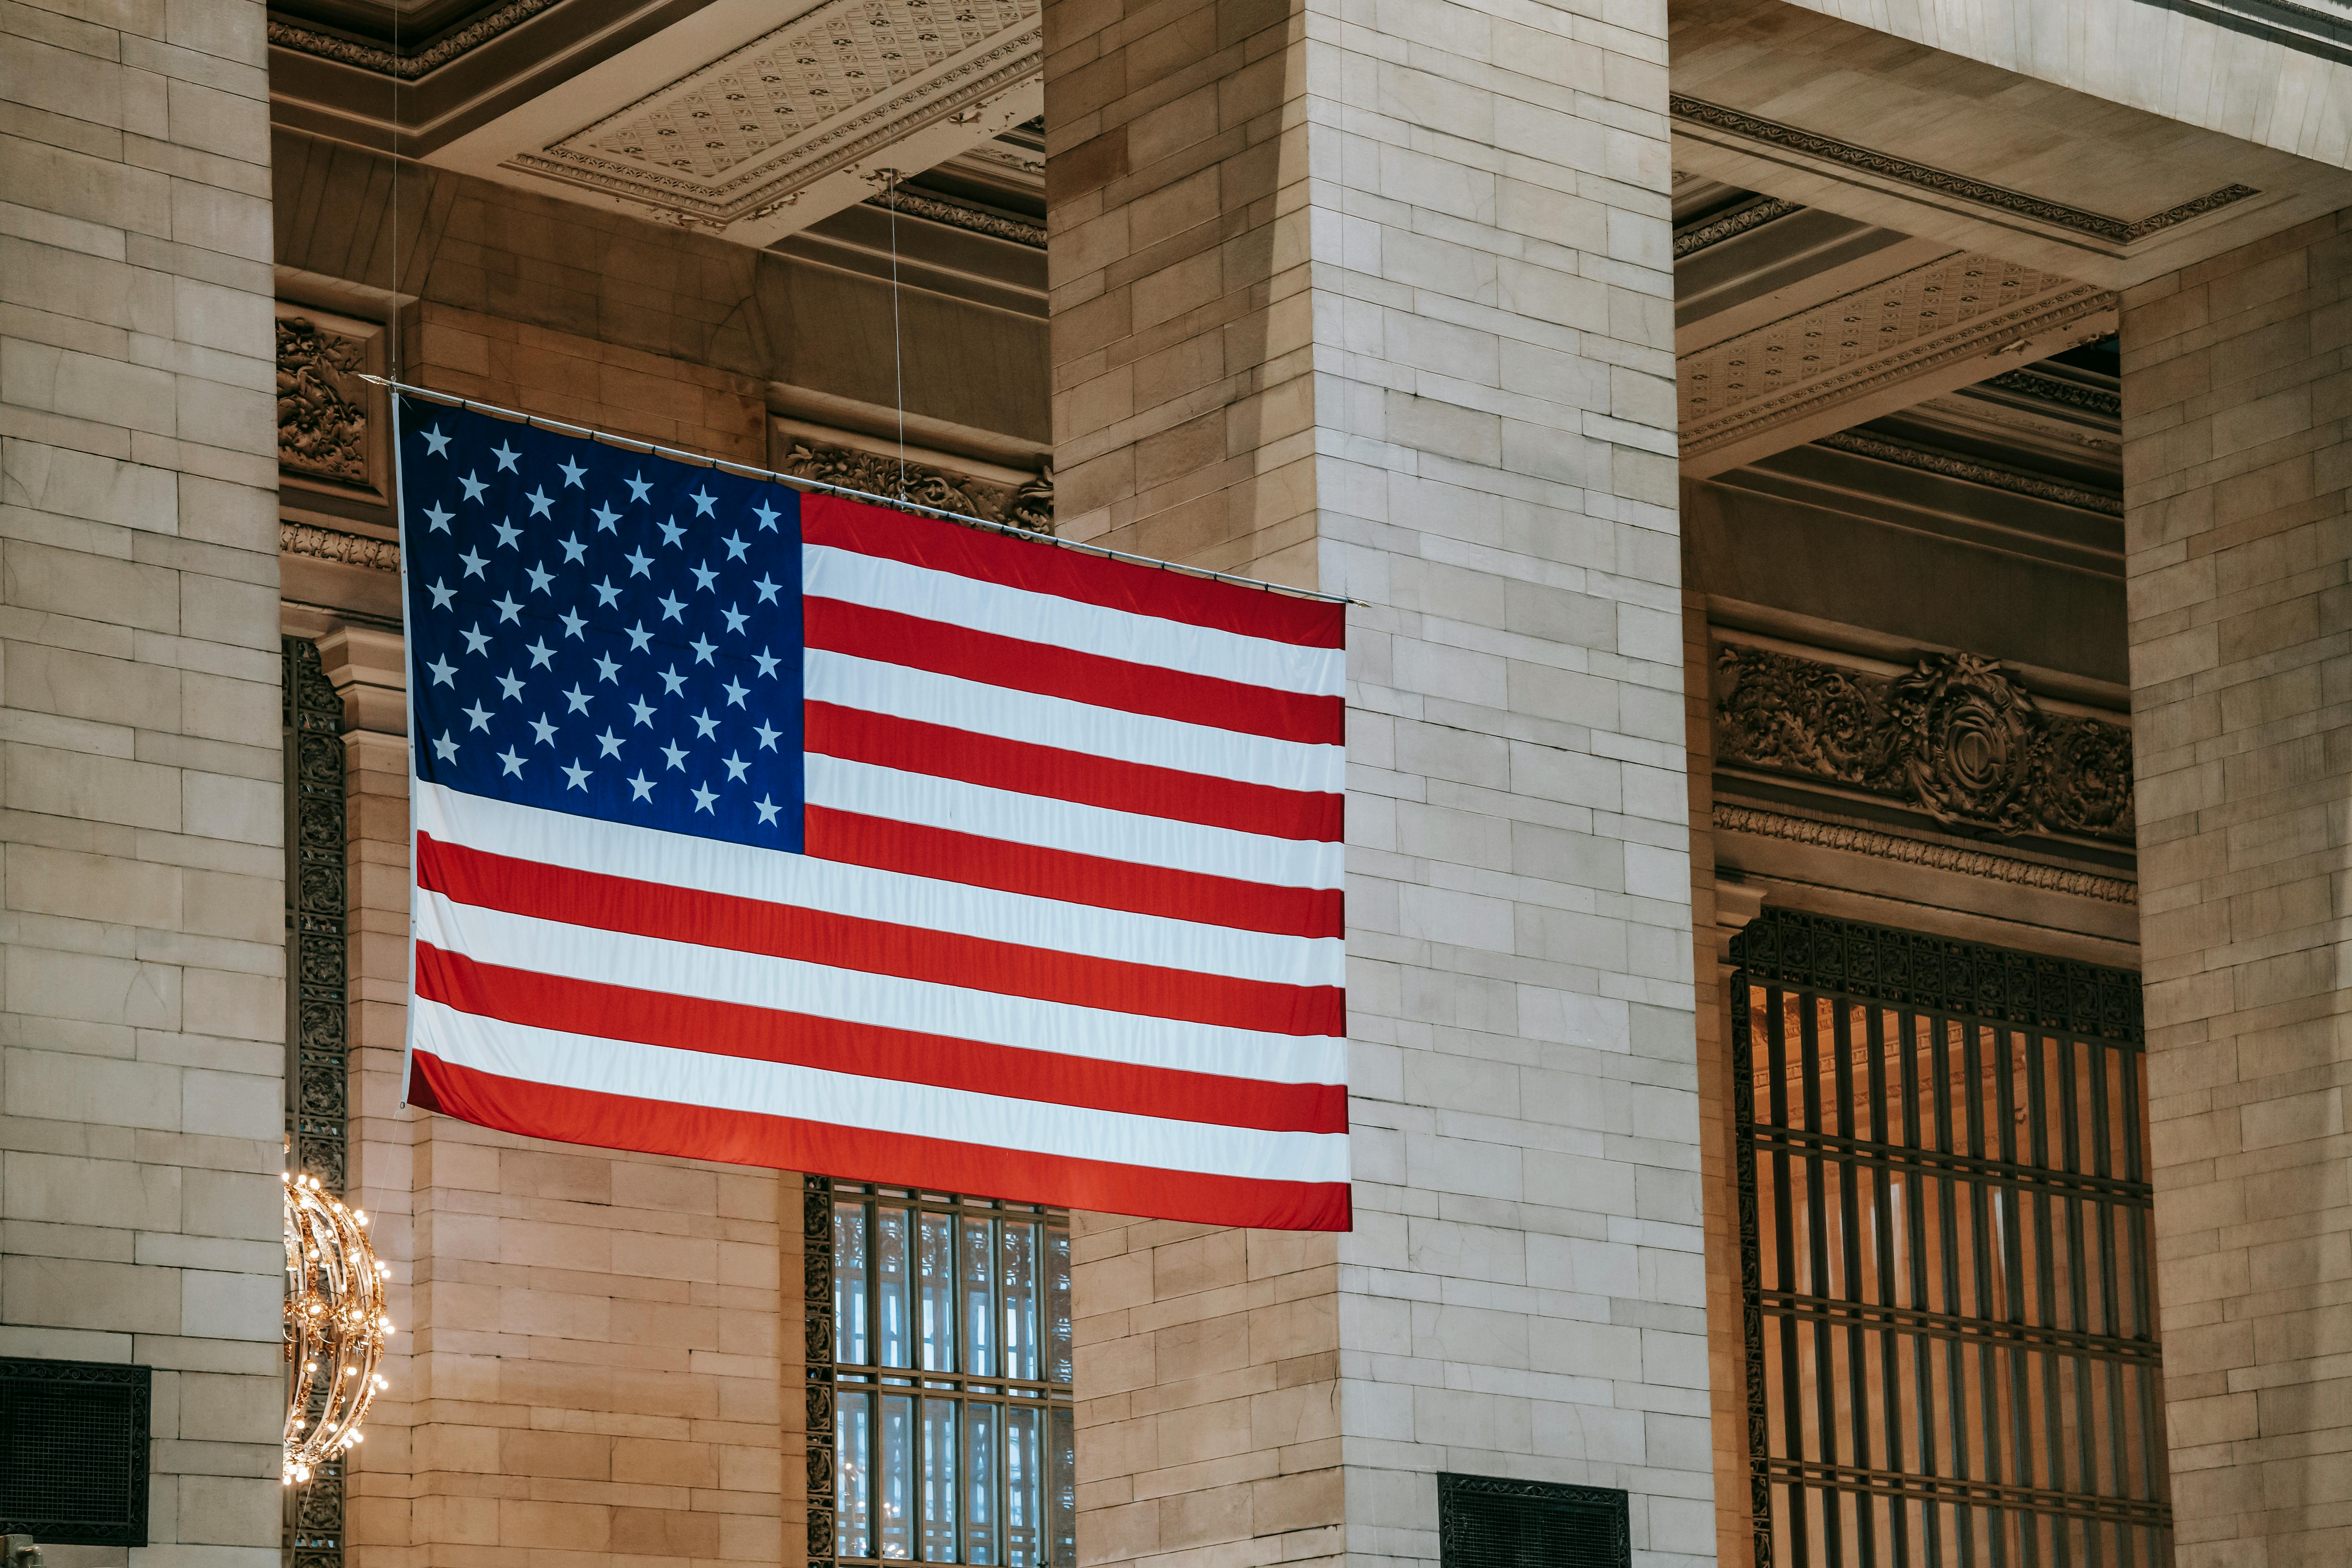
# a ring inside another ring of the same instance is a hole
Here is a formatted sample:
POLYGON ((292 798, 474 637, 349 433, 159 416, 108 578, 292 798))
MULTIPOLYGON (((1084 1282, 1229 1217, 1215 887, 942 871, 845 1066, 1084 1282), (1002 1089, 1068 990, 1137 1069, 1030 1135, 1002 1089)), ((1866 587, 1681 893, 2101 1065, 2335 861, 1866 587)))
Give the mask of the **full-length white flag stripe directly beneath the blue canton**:
POLYGON ((466 844, 496 856, 600 877, 701 889, 1122 964, 1155 964, 1275 985, 1348 983, 1348 947, 1338 938, 1270 936, 1000 893, 997 889, 908 877, 776 849, 602 823, 430 783, 416 783, 416 827, 445 844, 466 844))

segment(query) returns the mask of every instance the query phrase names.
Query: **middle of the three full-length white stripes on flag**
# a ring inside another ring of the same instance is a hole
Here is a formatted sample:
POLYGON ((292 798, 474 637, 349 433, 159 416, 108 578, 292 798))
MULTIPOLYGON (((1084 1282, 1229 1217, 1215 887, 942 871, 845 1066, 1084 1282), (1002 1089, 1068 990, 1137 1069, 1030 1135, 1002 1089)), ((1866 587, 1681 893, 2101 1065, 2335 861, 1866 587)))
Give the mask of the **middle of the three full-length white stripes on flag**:
POLYGON ((416 891, 416 940, 475 964, 673 997, 734 1001, 985 1046, 1272 1084, 1343 1084, 1348 1041, 1112 1013, 1068 1001, 906 980, 731 947, 508 914, 416 891))

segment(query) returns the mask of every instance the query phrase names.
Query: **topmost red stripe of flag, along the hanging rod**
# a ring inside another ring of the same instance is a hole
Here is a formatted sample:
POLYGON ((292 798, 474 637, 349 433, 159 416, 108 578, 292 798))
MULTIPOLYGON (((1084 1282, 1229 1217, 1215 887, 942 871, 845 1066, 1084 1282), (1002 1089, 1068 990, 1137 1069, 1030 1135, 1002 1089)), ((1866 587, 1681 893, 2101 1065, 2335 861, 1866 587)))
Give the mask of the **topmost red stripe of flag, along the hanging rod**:
POLYGON ((1185 621, 1310 649, 1348 646, 1345 604, 1115 562, 840 496, 800 498, 800 538, 1080 604, 1124 609, 1134 616, 1185 621))

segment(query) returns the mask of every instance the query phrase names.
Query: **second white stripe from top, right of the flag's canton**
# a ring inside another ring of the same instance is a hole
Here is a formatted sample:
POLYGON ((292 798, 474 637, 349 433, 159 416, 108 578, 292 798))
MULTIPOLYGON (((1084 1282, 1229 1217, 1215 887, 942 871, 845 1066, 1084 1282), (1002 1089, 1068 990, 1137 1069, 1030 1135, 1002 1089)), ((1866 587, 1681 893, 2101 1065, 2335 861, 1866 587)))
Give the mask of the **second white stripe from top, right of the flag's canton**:
POLYGON ((802 696, 811 703, 863 708, 976 736, 1025 741, 1063 752, 1115 757, 1117 762, 1277 790, 1336 795, 1345 788, 1345 752, 1338 745, 1303 745, 1209 724, 1183 724, 823 649, 809 649, 804 661, 802 696))

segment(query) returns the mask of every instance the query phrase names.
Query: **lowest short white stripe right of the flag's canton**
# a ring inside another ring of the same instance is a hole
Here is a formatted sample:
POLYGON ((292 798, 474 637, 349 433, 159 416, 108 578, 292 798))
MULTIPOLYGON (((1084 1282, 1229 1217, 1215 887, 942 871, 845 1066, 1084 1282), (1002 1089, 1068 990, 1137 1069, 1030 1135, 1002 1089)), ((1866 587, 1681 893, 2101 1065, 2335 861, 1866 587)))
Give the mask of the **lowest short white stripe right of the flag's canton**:
POLYGON ((833 811, 1268 886, 1334 889, 1348 856, 1343 844, 1329 839, 1275 839, 1176 823, 818 752, 809 752, 802 790, 811 806, 833 811))

